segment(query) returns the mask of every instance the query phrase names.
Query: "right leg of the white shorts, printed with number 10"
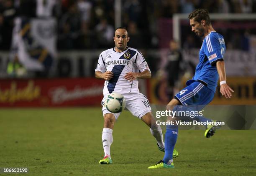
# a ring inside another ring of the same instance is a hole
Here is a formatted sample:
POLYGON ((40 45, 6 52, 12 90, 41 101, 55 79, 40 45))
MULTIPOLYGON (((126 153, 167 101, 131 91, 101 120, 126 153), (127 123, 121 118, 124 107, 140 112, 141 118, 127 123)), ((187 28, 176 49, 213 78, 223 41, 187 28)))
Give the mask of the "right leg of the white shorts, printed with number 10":
POLYGON ((133 116, 141 119, 146 113, 151 112, 151 106, 148 98, 142 93, 131 93, 129 97, 125 98, 126 109, 130 111, 133 116))

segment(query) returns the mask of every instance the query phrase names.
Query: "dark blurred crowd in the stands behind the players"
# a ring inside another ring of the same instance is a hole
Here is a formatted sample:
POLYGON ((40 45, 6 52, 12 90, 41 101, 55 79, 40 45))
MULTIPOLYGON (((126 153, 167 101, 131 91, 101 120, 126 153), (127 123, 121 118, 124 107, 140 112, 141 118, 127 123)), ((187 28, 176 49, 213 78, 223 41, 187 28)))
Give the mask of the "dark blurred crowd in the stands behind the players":
MULTIPOLYGON (((115 0, 0 0, 0 50, 9 50, 13 19, 16 16, 57 19, 58 50, 110 48, 115 30, 115 0), (37 3, 47 10, 37 8, 37 3)), ((122 25, 131 37, 134 48, 159 47, 159 19, 172 18, 174 13, 190 13, 206 8, 210 13, 256 13, 255 0, 122 0, 122 25), (139 40, 138 40, 139 39, 139 40)), ((186 30, 190 30, 189 25, 186 30)), ((230 47, 244 47, 250 30, 230 33, 230 47), (233 41, 236 45, 233 46, 233 41)), ((226 36, 225 36, 226 35, 226 36)), ((227 39, 226 39, 227 40, 227 39)), ((194 35, 182 38, 182 46, 195 47, 194 35)), ((198 44, 200 45, 200 44, 198 44)), ((246 48, 243 48, 246 50, 246 48)))

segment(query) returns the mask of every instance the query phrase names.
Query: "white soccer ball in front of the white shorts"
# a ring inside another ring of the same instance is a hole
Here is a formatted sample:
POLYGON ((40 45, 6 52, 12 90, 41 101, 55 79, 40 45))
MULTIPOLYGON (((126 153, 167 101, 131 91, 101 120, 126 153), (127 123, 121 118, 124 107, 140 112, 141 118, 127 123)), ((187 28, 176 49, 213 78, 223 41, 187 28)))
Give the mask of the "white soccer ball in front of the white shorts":
POLYGON ((105 100, 105 106, 112 113, 120 113, 125 108, 125 98, 120 93, 110 93, 105 100))

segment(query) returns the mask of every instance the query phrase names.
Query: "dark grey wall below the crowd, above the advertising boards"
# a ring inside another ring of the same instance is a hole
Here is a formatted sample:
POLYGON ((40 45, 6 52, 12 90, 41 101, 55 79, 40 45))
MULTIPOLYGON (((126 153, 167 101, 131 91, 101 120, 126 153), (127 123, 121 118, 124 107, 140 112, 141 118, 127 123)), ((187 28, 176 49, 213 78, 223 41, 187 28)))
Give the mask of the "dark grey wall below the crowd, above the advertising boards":
MULTIPOLYGON (((255 40, 256 41, 256 40, 255 40)), ((166 50, 141 50, 146 58, 152 75, 156 74, 159 68, 164 68, 167 62, 166 50)), ((58 57, 54 60, 50 77, 93 77, 98 58, 102 50, 89 51, 67 51, 59 52, 58 57)), ((182 50, 183 59, 192 65, 198 63, 198 48, 182 50)), ((10 78, 7 74, 8 52, 0 51, 0 78, 10 78)), ((225 68, 228 76, 256 76, 256 52, 244 52, 240 50, 227 50, 225 53, 225 68)), ((194 71, 194 68, 186 68, 194 71)), ((33 74, 24 75, 25 78, 32 77, 33 74)))

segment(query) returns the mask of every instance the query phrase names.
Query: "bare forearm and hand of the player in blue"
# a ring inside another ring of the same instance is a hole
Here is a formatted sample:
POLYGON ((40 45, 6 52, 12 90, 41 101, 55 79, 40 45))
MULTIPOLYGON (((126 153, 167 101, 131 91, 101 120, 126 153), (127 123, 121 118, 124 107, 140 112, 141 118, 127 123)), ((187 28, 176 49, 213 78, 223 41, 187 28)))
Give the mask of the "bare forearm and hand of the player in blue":
MULTIPOLYGON (((221 81, 226 81, 226 73, 225 73, 225 64, 224 61, 218 61, 216 63, 218 74, 221 81)), ((226 98, 231 98, 233 89, 228 86, 227 83, 223 83, 220 85, 220 93, 226 98)))

